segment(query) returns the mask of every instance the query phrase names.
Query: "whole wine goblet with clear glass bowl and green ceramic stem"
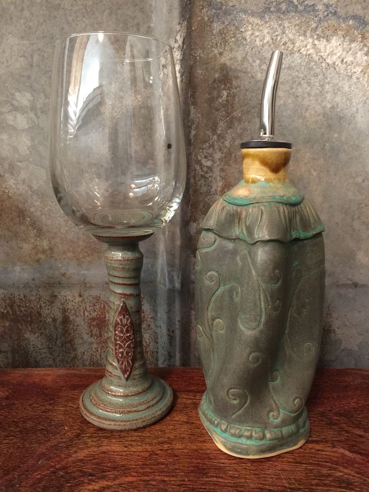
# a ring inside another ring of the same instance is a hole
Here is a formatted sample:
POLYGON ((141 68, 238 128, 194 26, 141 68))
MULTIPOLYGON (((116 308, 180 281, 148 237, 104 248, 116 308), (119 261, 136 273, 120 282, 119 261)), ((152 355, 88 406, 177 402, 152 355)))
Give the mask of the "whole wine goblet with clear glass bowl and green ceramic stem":
POLYGON ((105 376, 81 396, 106 429, 159 420, 172 390, 148 374, 142 347, 139 241, 163 227, 186 182, 183 127, 170 46, 129 33, 75 34, 56 44, 50 170, 63 212, 107 243, 105 376))

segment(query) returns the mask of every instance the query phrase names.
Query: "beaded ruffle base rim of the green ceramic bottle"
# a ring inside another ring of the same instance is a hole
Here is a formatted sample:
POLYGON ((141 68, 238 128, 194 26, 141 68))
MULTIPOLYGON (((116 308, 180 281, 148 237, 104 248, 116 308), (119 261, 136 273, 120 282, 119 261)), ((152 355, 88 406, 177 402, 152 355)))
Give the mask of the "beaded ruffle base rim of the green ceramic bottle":
POLYGON ((306 408, 295 424, 274 429, 228 424, 217 418, 204 400, 199 406, 199 414, 219 449, 239 458, 257 459, 286 453, 302 446, 309 437, 306 408))

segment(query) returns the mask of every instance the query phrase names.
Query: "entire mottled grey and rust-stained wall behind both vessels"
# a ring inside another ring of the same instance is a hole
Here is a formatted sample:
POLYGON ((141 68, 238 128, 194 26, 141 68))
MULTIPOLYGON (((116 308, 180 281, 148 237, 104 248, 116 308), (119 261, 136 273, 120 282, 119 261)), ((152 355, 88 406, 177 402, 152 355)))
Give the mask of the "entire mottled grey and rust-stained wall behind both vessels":
POLYGON ((48 172, 55 40, 94 30, 155 35, 174 48, 189 180, 173 221, 142 243, 149 365, 198 364, 193 256, 199 223, 241 177, 257 135, 270 53, 285 53, 276 136, 290 177, 326 225, 321 363, 369 354, 369 5, 193 0, 0 2, 0 366, 104 361, 104 246, 60 210, 48 172))

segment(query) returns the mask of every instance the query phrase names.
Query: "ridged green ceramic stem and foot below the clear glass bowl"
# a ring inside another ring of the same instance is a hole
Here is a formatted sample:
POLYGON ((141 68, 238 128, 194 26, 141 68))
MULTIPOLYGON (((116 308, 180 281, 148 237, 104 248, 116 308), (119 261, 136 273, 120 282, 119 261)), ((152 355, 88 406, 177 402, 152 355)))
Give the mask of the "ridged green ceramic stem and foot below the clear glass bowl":
POLYGON ((173 395, 169 385, 148 374, 146 368, 141 330, 140 238, 98 239, 108 243, 108 353, 105 376, 85 390, 80 409, 87 420, 99 427, 135 429, 159 420, 169 410, 173 395), (132 335, 133 355, 129 349, 132 335), (128 376, 123 360, 131 368, 128 376))

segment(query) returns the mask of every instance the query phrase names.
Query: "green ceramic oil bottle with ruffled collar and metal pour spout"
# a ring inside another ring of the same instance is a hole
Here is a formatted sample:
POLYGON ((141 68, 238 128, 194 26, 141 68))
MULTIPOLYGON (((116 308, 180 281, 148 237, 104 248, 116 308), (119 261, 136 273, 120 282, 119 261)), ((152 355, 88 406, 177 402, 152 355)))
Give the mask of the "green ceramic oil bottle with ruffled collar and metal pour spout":
POLYGON ((245 458, 306 441, 322 331, 324 227, 288 180, 291 143, 273 136, 281 61, 273 52, 260 136, 241 144, 243 179, 202 222, 196 261, 199 413, 220 449, 245 458))

